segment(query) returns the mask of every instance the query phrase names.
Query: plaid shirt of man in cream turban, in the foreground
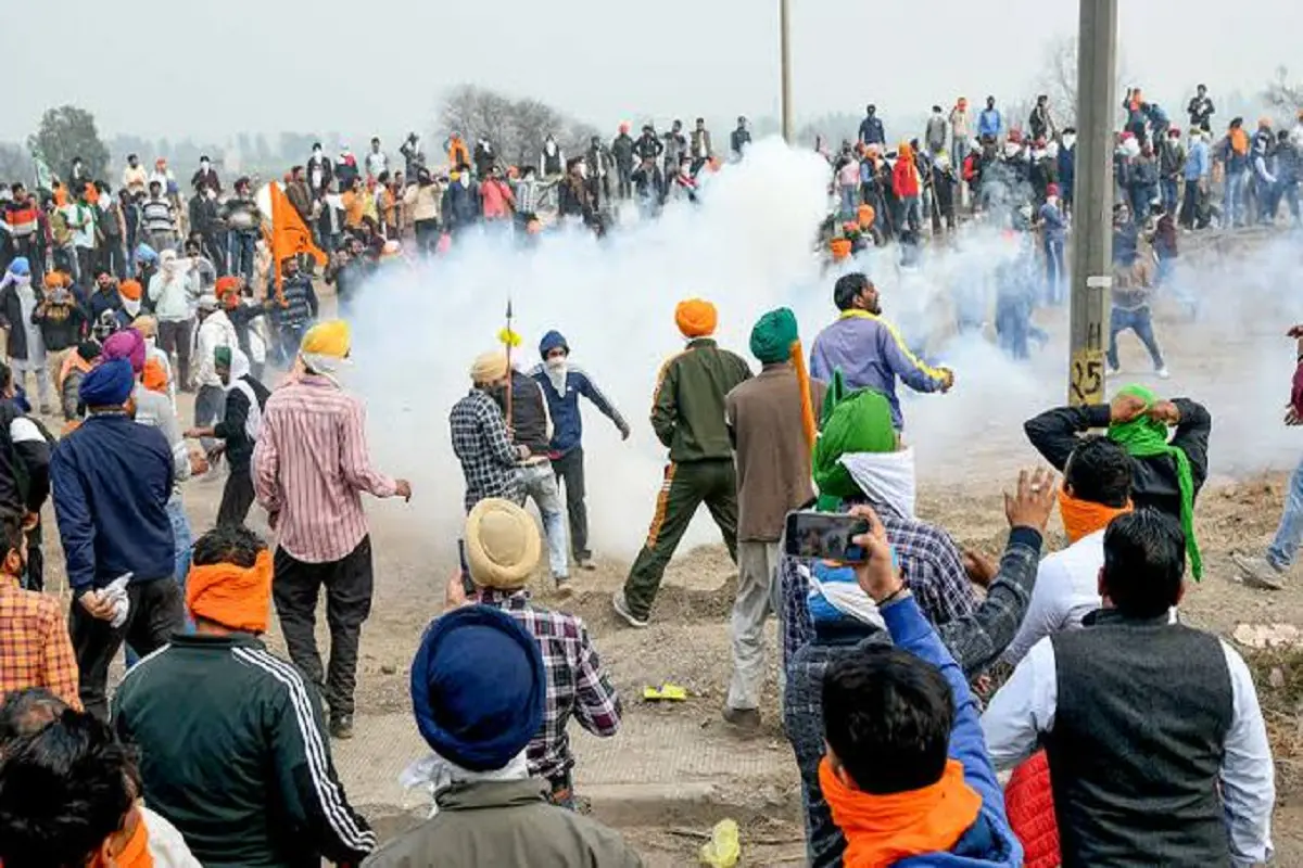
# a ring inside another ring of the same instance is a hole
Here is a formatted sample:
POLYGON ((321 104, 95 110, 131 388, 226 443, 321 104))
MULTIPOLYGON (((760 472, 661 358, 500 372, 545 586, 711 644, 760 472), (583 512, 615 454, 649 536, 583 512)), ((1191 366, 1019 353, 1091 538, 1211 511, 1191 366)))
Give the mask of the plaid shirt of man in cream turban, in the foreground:
POLYGON ((594 735, 615 735, 620 698, 576 616, 530 603, 529 591, 483 588, 480 603, 498 606, 538 639, 547 670, 543 729, 529 742, 529 774, 559 783, 575 766, 566 724, 571 716, 594 735))

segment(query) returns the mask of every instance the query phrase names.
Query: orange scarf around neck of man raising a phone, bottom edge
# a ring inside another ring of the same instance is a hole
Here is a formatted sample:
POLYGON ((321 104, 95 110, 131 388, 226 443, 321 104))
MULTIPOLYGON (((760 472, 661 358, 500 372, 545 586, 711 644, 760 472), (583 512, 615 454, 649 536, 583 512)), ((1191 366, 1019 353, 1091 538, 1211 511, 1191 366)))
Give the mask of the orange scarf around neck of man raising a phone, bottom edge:
POLYGON ((846 835, 846 868, 880 868, 926 852, 946 852, 977 820, 981 796, 964 781, 964 766, 946 760, 932 786, 873 795, 842 783, 825 756, 818 785, 833 822, 846 835))

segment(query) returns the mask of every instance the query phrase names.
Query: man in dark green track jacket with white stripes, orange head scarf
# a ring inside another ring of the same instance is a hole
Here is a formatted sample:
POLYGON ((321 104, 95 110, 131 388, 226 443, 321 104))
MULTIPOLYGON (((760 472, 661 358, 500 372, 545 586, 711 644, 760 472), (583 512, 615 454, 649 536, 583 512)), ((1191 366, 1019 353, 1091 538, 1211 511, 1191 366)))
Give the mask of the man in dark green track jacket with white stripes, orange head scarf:
POLYGON ((195 631, 126 673, 113 721, 141 748, 146 800, 205 865, 357 863, 375 833, 335 774, 317 690, 259 639, 271 575, 253 531, 201 536, 185 588, 195 631))

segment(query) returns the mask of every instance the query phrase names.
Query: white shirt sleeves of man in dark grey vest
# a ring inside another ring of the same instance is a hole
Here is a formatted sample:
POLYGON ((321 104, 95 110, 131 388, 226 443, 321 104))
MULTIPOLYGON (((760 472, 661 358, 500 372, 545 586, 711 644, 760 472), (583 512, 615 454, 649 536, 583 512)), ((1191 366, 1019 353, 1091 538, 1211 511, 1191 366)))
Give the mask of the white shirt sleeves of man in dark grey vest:
MULTIPOLYGON (((1248 868, 1272 858, 1276 766, 1248 666, 1234 648, 1225 642, 1221 647, 1230 673, 1231 722, 1218 777, 1231 864, 1248 868)), ((1053 731, 1057 708, 1054 643, 1046 638, 1032 647, 981 717, 986 751, 997 770, 1011 769, 1032 755, 1040 734, 1053 731)), ((1106 761, 1106 757, 1100 757, 1100 761, 1106 761)))

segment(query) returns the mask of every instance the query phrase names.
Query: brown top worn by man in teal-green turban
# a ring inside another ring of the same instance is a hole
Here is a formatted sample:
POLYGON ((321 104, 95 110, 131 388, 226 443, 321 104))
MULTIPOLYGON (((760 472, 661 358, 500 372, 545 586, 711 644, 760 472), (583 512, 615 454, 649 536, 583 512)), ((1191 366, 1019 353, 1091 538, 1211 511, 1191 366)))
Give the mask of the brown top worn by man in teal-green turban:
MULTIPOLYGON (((816 418, 825 387, 810 381, 816 418)), ((796 370, 766 364, 724 398, 737 461, 737 539, 773 543, 790 510, 814 497, 796 370)))

